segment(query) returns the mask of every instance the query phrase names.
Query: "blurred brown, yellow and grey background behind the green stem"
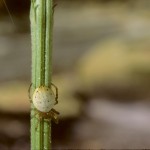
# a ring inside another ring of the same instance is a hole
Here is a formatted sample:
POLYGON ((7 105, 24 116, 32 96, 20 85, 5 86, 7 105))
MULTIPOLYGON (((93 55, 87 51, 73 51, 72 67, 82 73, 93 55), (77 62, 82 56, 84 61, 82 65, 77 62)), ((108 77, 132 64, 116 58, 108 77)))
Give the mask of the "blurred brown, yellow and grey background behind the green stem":
MULTIPOLYGON (((0 0, 0 149, 29 150, 29 0, 0 0)), ((56 149, 150 148, 150 1, 57 0, 56 149)))

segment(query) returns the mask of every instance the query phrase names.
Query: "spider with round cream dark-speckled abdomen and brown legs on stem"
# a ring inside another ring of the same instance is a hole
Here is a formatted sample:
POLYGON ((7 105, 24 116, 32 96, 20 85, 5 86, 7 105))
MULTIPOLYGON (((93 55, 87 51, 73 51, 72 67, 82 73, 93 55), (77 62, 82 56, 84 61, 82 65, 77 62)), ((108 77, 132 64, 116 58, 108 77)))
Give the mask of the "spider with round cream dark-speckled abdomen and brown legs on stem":
POLYGON ((58 123, 58 115, 53 107, 58 103, 58 88, 51 83, 51 85, 55 88, 56 93, 52 91, 51 88, 47 86, 40 86, 35 89, 32 99, 30 96, 30 90, 32 83, 28 89, 30 102, 34 105, 35 114, 39 115, 40 121, 44 119, 45 121, 50 121, 51 119, 57 124, 58 123))

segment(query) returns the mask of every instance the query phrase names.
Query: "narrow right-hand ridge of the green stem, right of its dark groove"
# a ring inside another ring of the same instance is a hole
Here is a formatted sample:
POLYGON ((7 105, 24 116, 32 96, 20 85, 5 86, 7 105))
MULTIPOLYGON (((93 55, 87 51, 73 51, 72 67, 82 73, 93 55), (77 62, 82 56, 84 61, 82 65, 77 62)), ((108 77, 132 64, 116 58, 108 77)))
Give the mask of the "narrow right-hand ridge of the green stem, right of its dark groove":
MULTIPOLYGON (((53 1, 46 0, 46 40, 45 40, 45 85, 50 86, 51 84, 51 76, 52 76, 52 31, 53 31, 53 1), (51 11, 50 11, 51 10, 51 11)), ((51 133, 51 125, 44 123, 44 131, 45 133, 51 133)), ((44 134, 44 146, 49 145, 51 142, 51 135, 44 134), (49 138, 46 138, 49 137, 49 138)), ((49 145, 49 149, 51 147, 51 143, 49 145)))

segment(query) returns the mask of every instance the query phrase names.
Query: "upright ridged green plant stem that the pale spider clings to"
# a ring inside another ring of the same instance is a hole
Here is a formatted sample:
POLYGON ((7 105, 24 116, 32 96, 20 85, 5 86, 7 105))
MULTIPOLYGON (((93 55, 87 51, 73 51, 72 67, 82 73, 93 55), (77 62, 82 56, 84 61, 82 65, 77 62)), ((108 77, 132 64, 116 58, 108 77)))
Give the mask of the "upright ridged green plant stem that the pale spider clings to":
MULTIPOLYGON (((53 0, 31 0, 32 92, 51 84, 53 0)), ((31 104, 31 149, 51 149, 51 124, 35 114, 31 104)))

